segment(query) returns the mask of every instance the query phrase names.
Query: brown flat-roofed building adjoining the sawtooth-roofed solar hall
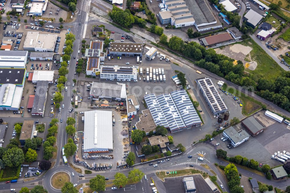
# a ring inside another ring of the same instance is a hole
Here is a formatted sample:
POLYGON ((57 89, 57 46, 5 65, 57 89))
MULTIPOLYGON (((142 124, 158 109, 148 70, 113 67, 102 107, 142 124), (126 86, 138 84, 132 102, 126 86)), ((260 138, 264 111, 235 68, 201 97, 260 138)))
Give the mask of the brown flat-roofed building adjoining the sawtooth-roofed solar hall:
POLYGON ((139 116, 139 121, 135 124, 135 127, 141 131, 145 131, 146 135, 149 135, 150 131, 155 133, 156 125, 149 109, 143 110, 139 116))

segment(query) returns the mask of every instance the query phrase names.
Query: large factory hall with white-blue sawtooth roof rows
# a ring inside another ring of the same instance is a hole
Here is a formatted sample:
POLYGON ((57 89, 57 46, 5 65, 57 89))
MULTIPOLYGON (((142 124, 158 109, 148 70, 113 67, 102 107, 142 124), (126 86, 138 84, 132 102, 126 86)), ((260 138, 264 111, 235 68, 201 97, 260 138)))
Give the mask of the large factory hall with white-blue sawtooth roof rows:
POLYGON ((147 94, 145 103, 151 112, 155 125, 162 125, 170 132, 200 126, 202 124, 185 90, 170 94, 147 94))

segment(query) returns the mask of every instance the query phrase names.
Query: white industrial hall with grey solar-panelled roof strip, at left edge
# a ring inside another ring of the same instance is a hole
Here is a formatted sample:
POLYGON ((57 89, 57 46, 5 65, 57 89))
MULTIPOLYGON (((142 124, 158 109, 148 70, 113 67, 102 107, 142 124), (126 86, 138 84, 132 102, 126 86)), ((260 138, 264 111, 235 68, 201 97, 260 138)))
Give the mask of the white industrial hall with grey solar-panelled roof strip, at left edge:
POLYGON ((0 68, 25 68, 27 51, 0 50, 0 68))

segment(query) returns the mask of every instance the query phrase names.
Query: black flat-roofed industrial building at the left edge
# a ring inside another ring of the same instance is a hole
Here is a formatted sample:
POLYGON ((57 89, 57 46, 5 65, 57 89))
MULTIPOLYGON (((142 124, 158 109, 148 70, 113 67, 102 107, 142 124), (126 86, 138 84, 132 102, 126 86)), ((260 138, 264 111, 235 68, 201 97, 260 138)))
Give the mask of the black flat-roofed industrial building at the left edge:
POLYGON ((24 86, 26 68, 0 68, 0 85, 14 84, 24 86))

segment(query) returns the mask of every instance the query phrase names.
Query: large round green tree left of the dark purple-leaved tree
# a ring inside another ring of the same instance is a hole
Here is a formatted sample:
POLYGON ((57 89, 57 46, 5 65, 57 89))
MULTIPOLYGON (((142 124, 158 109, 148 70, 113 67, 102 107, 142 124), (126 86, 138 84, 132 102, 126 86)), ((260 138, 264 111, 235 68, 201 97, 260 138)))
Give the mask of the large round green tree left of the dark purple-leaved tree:
POLYGON ((8 167, 18 167, 24 161, 23 150, 20 148, 11 148, 6 150, 2 160, 8 167))

